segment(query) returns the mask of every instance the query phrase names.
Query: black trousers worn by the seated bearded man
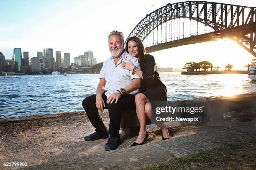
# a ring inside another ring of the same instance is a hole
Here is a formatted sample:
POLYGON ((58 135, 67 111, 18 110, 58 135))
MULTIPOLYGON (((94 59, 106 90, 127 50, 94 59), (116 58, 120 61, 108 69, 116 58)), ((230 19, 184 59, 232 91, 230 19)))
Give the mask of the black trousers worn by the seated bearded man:
POLYGON ((99 115, 98 109, 96 107, 96 95, 92 95, 89 97, 86 97, 82 104, 84 107, 84 110, 92 123, 93 127, 95 128, 95 131, 100 134, 106 134, 109 133, 112 137, 118 137, 120 138, 119 130, 120 130, 120 122, 122 118, 122 110, 134 110, 136 109, 135 105, 135 96, 131 94, 125 94, 123 95, 118 102, 115 104, 115 101, 111 103, 107 103, 107 96, 105 95, 105 92, 102 94, 102 99, 105 102, 104 109, 108 109, 109 113, 109 132, 107 127, 102 122, 102 119, 99 115))

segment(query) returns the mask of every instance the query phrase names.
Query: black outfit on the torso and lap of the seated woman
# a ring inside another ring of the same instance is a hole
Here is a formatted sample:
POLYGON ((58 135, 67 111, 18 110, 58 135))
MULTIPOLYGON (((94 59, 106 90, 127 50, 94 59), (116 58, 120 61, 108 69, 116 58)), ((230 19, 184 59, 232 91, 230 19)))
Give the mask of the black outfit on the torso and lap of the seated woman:
POLYGON ((146 95, 149 101, 167 101, 167 90, 156 72, 156 63, 152 55, 145 55, 145 67, 141 68, 143 80, 141 80, 140 92, 146 95))

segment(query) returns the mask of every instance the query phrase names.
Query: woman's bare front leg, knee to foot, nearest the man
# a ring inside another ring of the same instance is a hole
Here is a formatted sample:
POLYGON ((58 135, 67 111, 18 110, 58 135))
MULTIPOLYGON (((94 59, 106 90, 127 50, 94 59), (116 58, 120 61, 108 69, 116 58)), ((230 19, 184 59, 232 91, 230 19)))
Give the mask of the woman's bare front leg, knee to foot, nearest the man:
POLYGON ((146 133, 146 113, 145 113, 146 102, 149 102, 149 100, 143 93, 138 93, 135 96, 136 113, 141 126, 138 138, 135 141, 136 143, 142 143, 147 134, 146 133))

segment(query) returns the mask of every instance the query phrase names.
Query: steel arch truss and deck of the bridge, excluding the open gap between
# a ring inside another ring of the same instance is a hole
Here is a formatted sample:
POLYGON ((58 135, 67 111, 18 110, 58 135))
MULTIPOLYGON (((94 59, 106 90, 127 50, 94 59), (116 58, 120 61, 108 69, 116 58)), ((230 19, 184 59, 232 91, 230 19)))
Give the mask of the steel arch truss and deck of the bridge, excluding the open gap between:
MULTIPOLYGON (((188 37, 177 36, 176 40, 174 38, 166 42, 154 41, 146 47, 147 52, 228 37, 256 57, 256 7, 205 1, 168 3, 147 14, 128 37, 137 36, 144 42, 152 31, 153 33, 155 29, 158 31, 160 25, 181 18, 197 21, 197 35, 192 35, 190 32, 188 37), (205 34, 198 35, 198 23, 212 28, 213 31, 205 31, 205 34)), ((189 30, 191 31, 191 28, 189 30)))

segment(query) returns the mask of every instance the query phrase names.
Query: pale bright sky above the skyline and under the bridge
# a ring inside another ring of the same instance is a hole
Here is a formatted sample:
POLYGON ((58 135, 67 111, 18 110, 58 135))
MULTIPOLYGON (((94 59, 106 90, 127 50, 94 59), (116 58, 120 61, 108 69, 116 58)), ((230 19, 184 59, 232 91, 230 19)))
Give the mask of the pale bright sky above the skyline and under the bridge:
MULTIPOLYGON (((256 6, 255 0, 212 0, 235 5, 256 6)), ((37 51, 53 48, 74 57, 91 50, 98 62, 110 57, 108 33, 122 31, 126 37, 146 14, 181 0, 0 0, 0 52, 11 59, 13 48, 37 51)), ((158 67, 183 67, 186 62, 207 60, 225 69, 234 69, 254 59, 253 55, 229 39, 152 52, 158 67)))

